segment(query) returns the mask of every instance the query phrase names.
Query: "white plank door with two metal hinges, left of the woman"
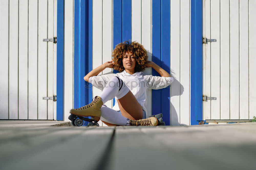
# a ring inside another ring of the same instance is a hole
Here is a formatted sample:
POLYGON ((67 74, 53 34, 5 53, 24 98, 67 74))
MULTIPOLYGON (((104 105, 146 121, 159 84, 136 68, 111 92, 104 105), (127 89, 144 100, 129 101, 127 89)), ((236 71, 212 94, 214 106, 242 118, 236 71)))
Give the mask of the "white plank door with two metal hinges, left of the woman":
POLYGON ((0 119, 53 120, 57 0, 0 2, 0 119))

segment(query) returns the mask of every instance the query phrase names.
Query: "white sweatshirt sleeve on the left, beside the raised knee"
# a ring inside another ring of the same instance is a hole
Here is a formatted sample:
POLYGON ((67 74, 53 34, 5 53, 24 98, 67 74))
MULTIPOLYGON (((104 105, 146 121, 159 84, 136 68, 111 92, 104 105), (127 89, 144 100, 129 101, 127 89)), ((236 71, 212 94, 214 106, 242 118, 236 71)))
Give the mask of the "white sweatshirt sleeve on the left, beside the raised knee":
POLYGON ((116 76, 116 74, 92 76, 89 78, 89 83, 91 83, 94 87, 102 90, 102 88, 104 88, 108 84, 109 80, 114 76, 116 76))

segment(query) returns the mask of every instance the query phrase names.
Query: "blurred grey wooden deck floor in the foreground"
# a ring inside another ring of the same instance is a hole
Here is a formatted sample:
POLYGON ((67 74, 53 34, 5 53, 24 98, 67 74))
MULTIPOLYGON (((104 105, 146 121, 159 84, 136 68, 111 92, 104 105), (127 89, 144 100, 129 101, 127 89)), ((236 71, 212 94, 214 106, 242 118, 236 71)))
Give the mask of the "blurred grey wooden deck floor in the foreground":
POLYGON ((0 126, 1 169, 256 169, 256 123, 0 126))

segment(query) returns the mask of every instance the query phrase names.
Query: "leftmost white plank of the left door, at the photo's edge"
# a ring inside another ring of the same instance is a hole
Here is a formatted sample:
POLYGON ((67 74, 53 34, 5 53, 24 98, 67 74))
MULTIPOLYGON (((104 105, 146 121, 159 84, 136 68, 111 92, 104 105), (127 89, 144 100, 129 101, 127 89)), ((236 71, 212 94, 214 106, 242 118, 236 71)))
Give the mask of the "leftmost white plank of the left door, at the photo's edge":
POLYGON ((2 98, 0 99, 0 119, 8 119, 8 41, 9 41, 9 2, 5 0, 0 1, 0 95, 2 98))

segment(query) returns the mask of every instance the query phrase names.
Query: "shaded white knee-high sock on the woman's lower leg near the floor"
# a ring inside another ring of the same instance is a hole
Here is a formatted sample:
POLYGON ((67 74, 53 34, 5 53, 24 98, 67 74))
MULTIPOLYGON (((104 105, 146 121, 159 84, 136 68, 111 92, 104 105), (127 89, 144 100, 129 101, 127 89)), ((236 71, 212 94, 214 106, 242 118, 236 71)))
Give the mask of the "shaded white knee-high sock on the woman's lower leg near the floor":
POLYGON ((129 121, 127 121, 127 118, 122 116, 117 111, 105 106, 102 106, 100 110, 101 110, 100 120, 104 122, 112 123, 115 125, 125 126, 127 123, 128 124, 126 126, 130 125, 129 121))

